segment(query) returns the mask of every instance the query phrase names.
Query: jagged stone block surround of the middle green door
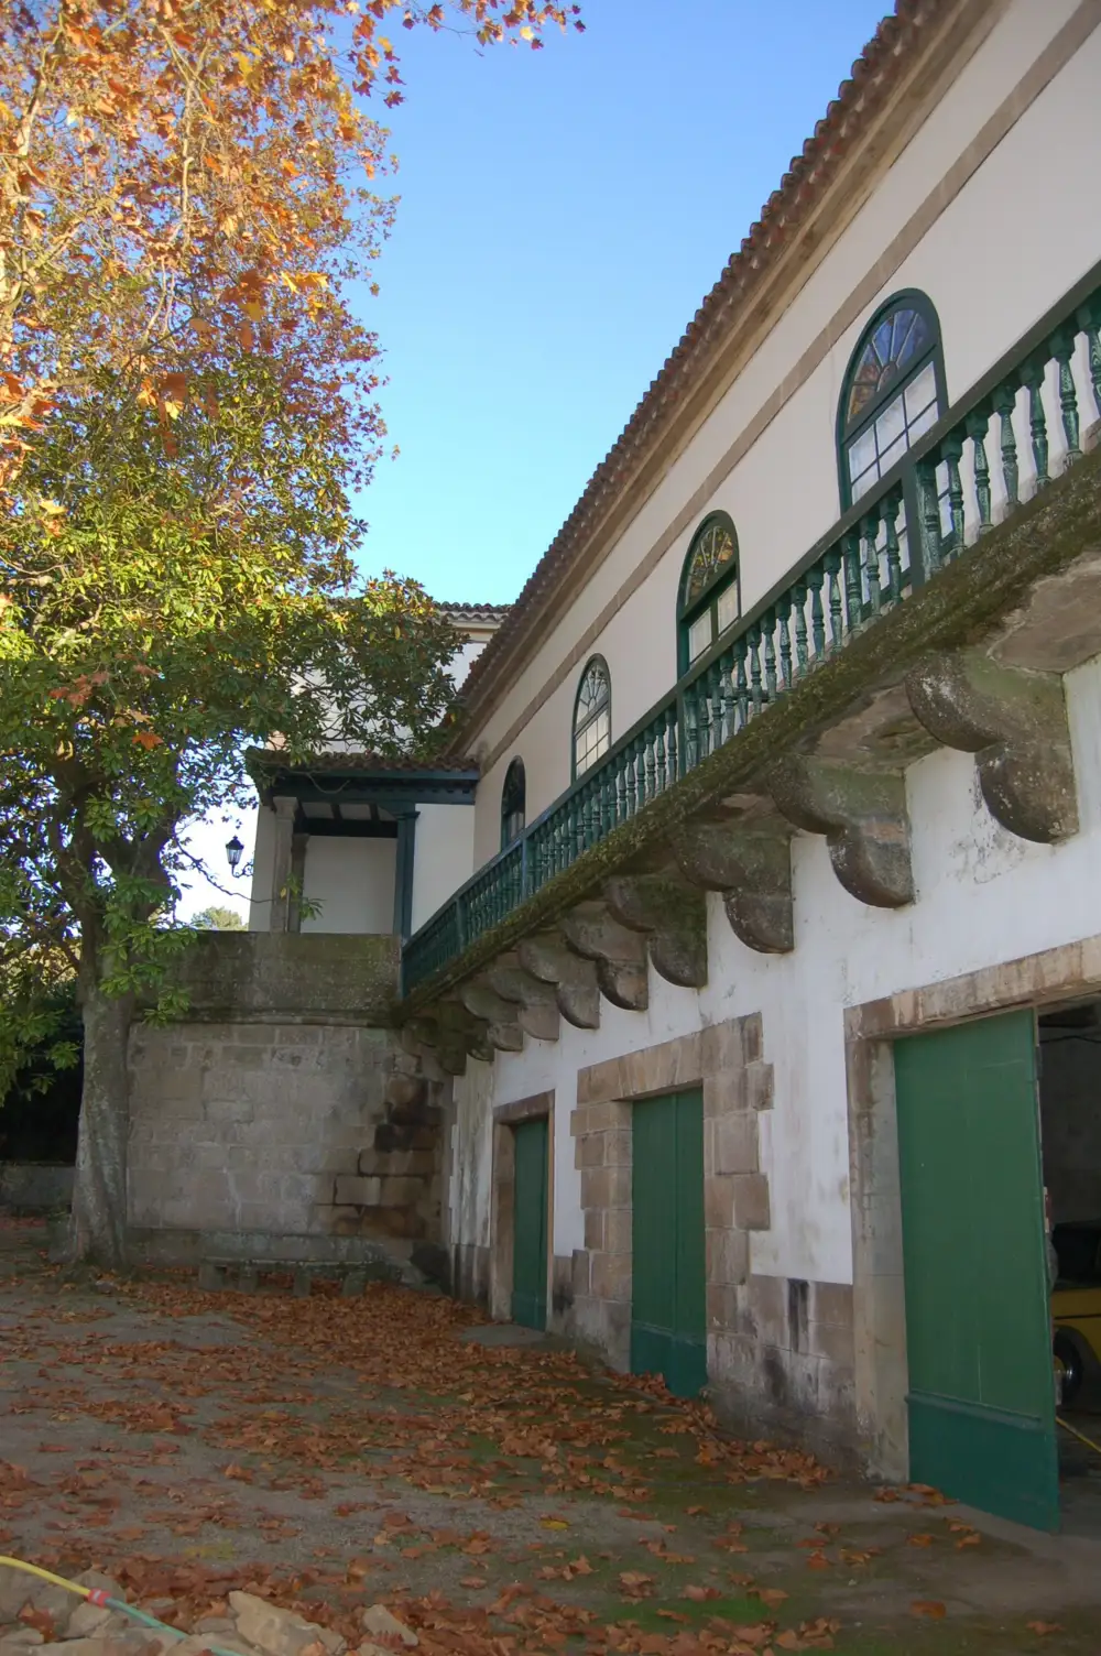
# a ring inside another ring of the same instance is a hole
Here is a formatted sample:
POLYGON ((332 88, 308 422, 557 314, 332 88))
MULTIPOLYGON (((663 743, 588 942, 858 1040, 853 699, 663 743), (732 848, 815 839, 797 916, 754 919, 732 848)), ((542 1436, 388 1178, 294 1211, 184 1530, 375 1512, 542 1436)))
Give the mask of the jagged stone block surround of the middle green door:
POLYGON ((757 1143, 757 1114, 773 1101, 760 1013, 579 1070, 570 1131, 584 1247, 573 1254, 573 1325, 621 1370, 631 1356, 631 1105, 689 1086, 704 1091, 709 1353, 710 1335, 733 1326, 737 1288, 748 1278, 748 1234, 772 1224, 757 1143))

